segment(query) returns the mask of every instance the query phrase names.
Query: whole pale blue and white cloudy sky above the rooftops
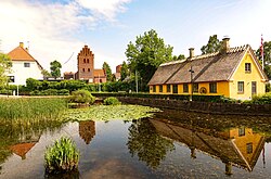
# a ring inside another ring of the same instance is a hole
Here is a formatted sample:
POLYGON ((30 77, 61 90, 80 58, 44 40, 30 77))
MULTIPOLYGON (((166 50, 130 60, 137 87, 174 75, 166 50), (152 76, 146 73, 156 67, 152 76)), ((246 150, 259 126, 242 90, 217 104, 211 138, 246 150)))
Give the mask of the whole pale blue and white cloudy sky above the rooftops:
POLYGON ((77 71, 77 54, 87 44, 94 67, 108 63, 113 73, 126 61, 127 44, 155 29, 173 54, 208 42, 209 36, 231 38, 230 46, 257 50, 261 35, 271 41, 270 0, 0 0, 0 51, 20 42, 50 71, 77 71))

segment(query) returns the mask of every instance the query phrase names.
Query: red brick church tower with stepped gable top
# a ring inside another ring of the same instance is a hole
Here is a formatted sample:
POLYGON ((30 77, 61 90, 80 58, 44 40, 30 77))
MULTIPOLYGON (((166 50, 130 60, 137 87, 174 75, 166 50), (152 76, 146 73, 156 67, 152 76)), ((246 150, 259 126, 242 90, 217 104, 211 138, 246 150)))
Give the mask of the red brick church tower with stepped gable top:
POLYGON ((88 46, 85 46, 77 55, 77 79, 93 82, 94 79, 94 54, 88 46))

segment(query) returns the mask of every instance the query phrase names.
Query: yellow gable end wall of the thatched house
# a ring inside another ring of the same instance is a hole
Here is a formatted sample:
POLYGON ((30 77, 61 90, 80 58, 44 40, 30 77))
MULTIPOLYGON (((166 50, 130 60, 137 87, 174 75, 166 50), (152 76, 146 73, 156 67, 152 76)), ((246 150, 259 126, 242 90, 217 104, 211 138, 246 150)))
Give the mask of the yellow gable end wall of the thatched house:
POLYGON ((257 68, 251 55, 246 53, 244 59, 242 60, 240 66, 233 74, 233 77, 230 79, 230 98, 238 99, 238 100, 250 100, 251 99, 251 81, 256 81, 256 94, 263 94, 266 93, 266 82, 262 81, 261 74, 257 68), (245 63, 251 64, 251 72, 245 72, 245 63), (237 91, 238 81, 244 81, 244 92, 240 93, 237 91))

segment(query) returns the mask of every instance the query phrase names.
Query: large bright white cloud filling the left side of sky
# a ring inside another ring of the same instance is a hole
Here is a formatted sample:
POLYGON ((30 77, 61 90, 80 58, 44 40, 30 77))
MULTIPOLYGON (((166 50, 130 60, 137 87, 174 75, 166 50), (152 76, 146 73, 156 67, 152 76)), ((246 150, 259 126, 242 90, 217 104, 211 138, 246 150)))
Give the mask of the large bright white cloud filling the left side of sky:
POLYGON ((94 30, 101 21, 115 21, 116 14, 124 12, 124 5, 129 1, 72 0, 63 3, 1 0, 0 50, 8 53, 20 41, 29 41, 30 53, 47 69, 51 61, 64 63, 74 52, 63 72, 76 71, 76 56, 85 44, 76 37, 94 30))

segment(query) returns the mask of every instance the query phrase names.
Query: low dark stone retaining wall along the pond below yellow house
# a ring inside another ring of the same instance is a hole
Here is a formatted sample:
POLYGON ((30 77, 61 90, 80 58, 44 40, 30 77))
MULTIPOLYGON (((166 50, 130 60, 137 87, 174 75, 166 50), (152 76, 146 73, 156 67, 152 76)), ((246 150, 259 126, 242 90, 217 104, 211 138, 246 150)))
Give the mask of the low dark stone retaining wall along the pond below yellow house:
POLYGON ((271 104, 227 104, 196 101, 164 100, 118 97, 118 100, 128 104, 149 105, 162 108, 183 110, 211 114, 238 114, 238 115, 269 115, 271 104))

